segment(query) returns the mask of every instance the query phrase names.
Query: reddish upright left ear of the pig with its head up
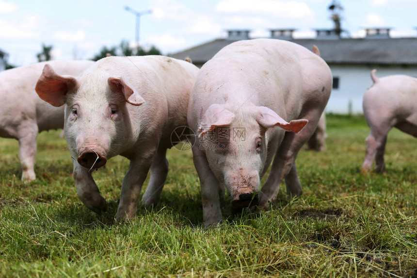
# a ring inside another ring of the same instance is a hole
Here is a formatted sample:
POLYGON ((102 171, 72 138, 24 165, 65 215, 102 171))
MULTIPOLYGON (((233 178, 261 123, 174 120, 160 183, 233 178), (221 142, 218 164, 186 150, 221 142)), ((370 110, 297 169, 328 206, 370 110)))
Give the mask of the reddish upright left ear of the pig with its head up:
POLYGON ((46 64, 41 76, 36 82, 35 91, 52 106, 59 107, 65 104, 65 96, 68 91, 77 87, 77 80, 71 76, 58 75, 52 66, 46 64))

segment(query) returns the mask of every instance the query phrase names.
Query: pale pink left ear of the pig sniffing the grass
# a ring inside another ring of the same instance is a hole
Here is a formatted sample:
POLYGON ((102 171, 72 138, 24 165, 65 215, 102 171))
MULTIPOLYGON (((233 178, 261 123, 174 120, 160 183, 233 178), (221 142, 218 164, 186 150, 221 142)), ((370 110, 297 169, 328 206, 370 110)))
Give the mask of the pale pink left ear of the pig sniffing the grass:
POLYGON ((201 125, 198 128, 200 137, 209 131, 212 131, 215 127, 222 127, 230 125, 235 114, 230 112, 221 104, 211 104, 203 116, 201 125))

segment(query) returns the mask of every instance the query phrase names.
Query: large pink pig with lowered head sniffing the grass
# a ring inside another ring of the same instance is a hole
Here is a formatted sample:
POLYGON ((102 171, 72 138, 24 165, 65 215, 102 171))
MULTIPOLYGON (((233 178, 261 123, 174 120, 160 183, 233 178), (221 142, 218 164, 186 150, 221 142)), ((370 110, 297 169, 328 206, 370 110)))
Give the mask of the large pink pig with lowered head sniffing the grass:
POLYGON ((290 196, 302 194, 295 159, 317 127, 333 82, 318 49, 313 51, 277 39, 244 40, 201 67, 188 123, 196 132, 192 153, 204 226, 222 222, 224 188, 234 208, 265 209, 284 178, 290 196))

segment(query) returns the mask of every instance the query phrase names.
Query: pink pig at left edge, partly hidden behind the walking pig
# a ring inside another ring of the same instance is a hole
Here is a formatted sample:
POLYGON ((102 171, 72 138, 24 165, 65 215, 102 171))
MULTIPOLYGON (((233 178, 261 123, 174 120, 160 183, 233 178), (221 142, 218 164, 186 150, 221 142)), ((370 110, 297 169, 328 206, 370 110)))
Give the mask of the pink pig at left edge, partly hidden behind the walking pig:
MULTIPOLYGON (((60 74, 79 75, 93 61, 49 61, 60 74)), ((64 108, 56 108, 38 97, 35 85, 46 62, 0 72, 0 136, 19 141, 22 180, 36 179, 36 139, 41 131, 64 127, 64 108)))

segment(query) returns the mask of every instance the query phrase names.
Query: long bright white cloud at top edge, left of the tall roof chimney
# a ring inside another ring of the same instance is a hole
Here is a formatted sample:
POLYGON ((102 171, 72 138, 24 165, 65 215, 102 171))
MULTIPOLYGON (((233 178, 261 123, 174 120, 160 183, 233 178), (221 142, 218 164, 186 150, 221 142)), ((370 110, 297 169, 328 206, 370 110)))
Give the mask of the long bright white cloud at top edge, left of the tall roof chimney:
POLYGON ((302 18, 313 15, 304 2, 275 0, 223 0, 217 4, 216 11, 273 15, 282 18, 302 18))

